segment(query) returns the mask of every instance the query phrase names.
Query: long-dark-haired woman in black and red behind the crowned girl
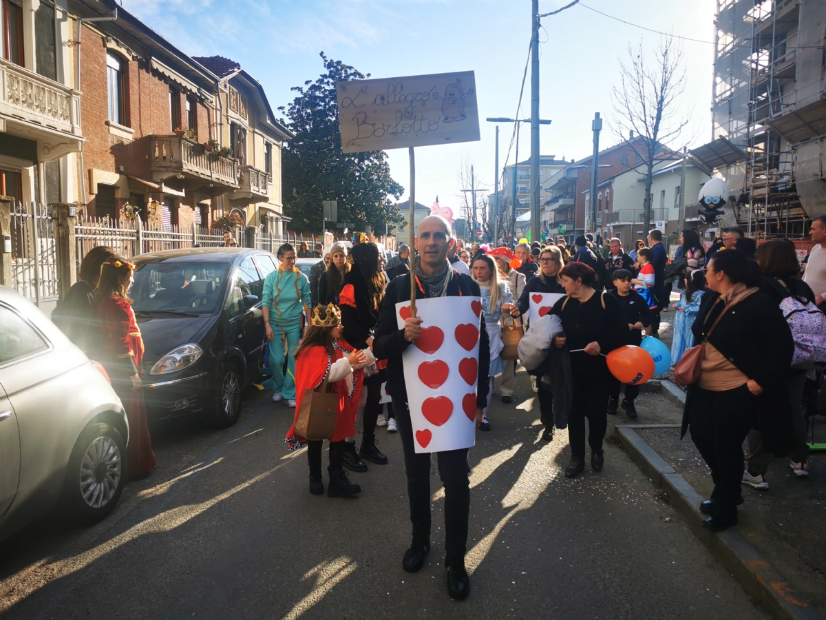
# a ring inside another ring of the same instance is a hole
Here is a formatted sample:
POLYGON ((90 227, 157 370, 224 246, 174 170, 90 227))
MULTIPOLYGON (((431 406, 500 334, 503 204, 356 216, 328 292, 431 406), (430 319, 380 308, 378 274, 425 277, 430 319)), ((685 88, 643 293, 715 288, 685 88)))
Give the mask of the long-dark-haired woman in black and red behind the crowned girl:
MULTIPOLYGON (((379 262, 375 243, 359 243, 350 250, 352 266, 341 283, 339 308, 344 340, 357 350, 373 350, 373 330, 378 322, 378 308, 384 298, 385 276, 379 262)), ((377 362, 377 372, 364 379, 367 402, 364 404, 362 445, 355 450, 355 442, 349 442, 344 452, 344 465, 353 471, 367 471, 362 458, 377 465, 386 465, 387 456, 376 447, 376 422, 382 412, 382 383, 387 360, 377 362), (362 458, 359 458, 361 456, 362 458)))

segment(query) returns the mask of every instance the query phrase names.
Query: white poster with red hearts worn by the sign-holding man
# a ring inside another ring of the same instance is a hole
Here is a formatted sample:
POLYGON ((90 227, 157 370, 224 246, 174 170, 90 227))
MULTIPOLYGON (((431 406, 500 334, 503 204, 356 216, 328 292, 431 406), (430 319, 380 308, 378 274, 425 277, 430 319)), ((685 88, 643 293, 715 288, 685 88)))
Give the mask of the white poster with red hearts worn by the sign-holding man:
MULTIPOLYGON (((410 302, 396 303, 399 329, 410 302)), ((476 443, 479 374, 478 297, 417 299, 420 336, 401 355, 416 453, 469 448, 476 443)))

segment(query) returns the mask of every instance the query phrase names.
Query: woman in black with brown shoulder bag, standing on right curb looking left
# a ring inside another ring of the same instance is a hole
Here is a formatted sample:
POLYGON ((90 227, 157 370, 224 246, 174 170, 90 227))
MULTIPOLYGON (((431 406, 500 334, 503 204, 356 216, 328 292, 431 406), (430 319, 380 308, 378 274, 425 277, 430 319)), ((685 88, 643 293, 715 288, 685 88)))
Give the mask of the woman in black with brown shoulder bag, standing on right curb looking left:
POLYGON ((720 531, 738 522, 743 441, 752 427, 762 431, 764 450, 788 451, 785 379, 795 343, 777 303, 760 292, 756 263, 737 251, 717 252, 706 281, 709 292, 691 327, 695 342, 705 341, 705 357, 700 379, 686 393, 682 435, 691 429, 710 467, 714 492, 700 510, 710 514, 704 527, 720 531))

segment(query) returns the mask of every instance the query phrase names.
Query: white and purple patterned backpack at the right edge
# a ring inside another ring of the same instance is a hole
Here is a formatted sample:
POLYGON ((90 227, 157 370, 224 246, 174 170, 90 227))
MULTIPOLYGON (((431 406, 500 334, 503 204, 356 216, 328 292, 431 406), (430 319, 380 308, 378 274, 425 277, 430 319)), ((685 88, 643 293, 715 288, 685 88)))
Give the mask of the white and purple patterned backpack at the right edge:
POLYGON ((811 369, 815 364, 826 363, 826 314, 809 299, 791 293, 781 280, 773 279, 771 284, 786 295, 780 309, 795 341, 792 368, 811 369))

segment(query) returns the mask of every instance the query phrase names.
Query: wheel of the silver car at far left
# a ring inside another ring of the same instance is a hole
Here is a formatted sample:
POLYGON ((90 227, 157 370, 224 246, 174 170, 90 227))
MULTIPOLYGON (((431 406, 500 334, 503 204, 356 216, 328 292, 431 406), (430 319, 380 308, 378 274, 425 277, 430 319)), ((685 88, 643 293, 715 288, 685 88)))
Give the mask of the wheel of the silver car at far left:
POLYGON ((105 422, 89 424, 74 444, 64 483, 64 503, 78 520, 107 517, 126 486, 126 441, 105 422))

